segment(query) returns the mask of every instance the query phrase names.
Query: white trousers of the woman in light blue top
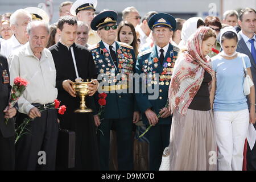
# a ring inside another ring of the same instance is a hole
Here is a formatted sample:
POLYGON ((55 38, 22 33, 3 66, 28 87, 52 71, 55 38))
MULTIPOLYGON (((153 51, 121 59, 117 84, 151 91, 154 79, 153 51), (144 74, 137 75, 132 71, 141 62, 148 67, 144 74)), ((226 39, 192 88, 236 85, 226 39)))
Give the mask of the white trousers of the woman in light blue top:
POLYGON ((214 124, 218 146, 218 170, 242 171, 249 110, 214 111, 214 124))

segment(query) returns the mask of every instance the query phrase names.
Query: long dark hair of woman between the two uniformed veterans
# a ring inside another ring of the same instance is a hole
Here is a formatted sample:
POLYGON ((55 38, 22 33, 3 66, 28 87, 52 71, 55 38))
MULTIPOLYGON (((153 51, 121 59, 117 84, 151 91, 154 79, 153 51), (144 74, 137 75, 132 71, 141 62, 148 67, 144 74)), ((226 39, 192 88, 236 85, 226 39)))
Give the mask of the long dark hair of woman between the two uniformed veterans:
POLYGON ((136 35, 136 31, 135 31, 135 28, 133 26, 133 24, 131 24, 130 22, 120 22, 119 23, 119 26, 118 26, 118 33, 117 33, 117 41, 121 42, 120 41, 120 32, 121 32, 121 29, 123 26, 129 26, 131 28, 131 31, 133 32, 133 42, 131 43, 130 46, 133 46, 133 49, 134 49, 134 53, 135 53, 135 56, 136 56, 136 59, 137 59, 137 56, 138 56, 138 43, 137 43, 137 35, 136 35))

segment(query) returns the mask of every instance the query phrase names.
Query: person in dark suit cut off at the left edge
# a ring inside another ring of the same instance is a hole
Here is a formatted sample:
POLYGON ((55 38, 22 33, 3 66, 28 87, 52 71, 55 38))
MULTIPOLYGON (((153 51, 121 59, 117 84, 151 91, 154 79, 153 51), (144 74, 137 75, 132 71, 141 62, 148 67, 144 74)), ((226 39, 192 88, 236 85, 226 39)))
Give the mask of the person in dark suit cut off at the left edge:
POLYGON ((5 56, 0 55, 0 170, 14 170, 15 164, 15 130, 13 118, 16 114, 14 107, 9 108, 11 92, 10 73, 5 56))

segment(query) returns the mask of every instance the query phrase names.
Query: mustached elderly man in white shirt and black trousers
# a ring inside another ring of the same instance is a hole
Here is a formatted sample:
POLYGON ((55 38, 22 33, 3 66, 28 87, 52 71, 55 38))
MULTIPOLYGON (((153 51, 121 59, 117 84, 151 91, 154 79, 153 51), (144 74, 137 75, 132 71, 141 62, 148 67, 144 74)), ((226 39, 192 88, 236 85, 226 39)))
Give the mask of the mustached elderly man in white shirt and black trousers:
POLYGON ((19 112, 16 124, 24 118, 34 119, 16 143, 17 170, 54 170, 58 135, 57 114, 49 109, 40 113, 39 107, 57 98, 55 88, 56 70, 51 52, 45 48, 48 24, 32 21, 27 26, 28 43, 9 57, 10 82, 15 77, 28 81, 26 90, 18 100, 19 112), (39 151, 46 152, 46 163, 39 164, 39 151))

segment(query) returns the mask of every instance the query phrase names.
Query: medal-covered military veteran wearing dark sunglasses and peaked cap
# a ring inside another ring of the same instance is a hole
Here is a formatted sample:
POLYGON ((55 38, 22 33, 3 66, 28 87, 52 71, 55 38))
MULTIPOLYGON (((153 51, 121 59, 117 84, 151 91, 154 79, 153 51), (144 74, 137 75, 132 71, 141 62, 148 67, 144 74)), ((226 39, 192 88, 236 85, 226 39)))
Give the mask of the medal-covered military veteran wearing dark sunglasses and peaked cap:
POLYGON ((98 92, 107 94, 101 119, 94 115, 95 125, 102 131, 98 132, 101 170, 109 169, 109 137, 112 127, 117 131, 118 169, 132 170, 132 123, 139 121, 133 89, 129 92, 129 86, 133 86, 129 82, 129 75, 134 73, 136 63, 134 50, 125 43, 115 41, 117 13, 114 11, 102 11, 94 17, 90 26, 92 30, 97 30, 101 38, 101 42, 90 49, 97 73, 102 76, 98 77, 98 92))

